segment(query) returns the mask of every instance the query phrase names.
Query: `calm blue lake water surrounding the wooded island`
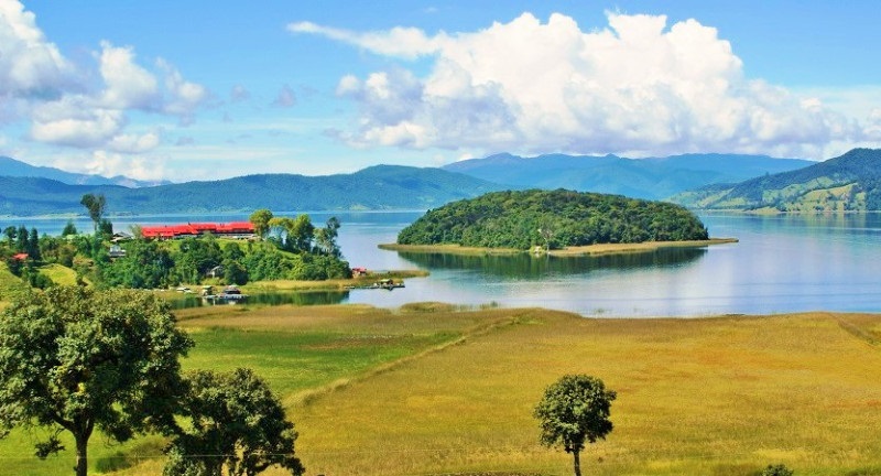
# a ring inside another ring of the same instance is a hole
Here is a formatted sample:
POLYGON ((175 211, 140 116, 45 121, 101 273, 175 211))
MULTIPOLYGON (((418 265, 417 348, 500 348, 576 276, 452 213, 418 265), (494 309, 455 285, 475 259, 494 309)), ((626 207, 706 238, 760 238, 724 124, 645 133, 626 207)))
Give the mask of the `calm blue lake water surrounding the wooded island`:
MULTIPOLYGON (((466 305, 542 306, 588 316, 701 316, 797 311, 881 312, 881 215, 700 215, 710 236, 738 244, 598 258, 455 257, 384 251, 422 213, 311 213, 342 223, 339 244, 352 267, 427 269, 394 291, 354 290, 339 300, 396 307, 440 301, 466 305)), ((131 225, 232 221, 242 215, 111 218, 131 225)), ((61 234, 66 219, 0 218, 0 228, 24 225, 61 234)), ((75 220, 80 230, 88 219, 75 220)), ((316 296, 317 298, 317 296, 316 296)), ((304 300, 304 303, 312 302, 304 300)))

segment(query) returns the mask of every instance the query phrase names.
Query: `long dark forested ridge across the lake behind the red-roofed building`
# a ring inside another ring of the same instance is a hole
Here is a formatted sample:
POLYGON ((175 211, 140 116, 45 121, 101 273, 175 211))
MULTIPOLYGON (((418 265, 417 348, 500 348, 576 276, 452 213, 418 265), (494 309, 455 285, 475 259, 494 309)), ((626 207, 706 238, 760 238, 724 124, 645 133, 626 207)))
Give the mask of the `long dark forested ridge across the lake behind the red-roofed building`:
POLYGON ((0 176, 0 214, 83 214, 84 194, 104 194, 107 213, 250 213, 274 210, 427 209, 501 190, 501 185, 447 172, 377 165, 354 174, 249 175, 144 188, 67 185, 46 178, 0 176))

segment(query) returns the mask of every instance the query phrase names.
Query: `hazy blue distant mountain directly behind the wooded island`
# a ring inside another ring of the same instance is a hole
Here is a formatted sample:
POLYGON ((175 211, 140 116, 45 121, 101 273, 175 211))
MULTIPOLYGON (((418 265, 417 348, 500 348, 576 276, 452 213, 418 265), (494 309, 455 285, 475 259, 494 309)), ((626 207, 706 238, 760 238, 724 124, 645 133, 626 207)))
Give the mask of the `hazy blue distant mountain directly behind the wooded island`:
POLYGON ((567 188, 637 198, 662 199, 713 183, 740 182, 815 162, 766 155, 685 154, 653 159, 617 155, 548 154, 522 158, 508 153, 471 159, 443 169, 521 187, 567 188))

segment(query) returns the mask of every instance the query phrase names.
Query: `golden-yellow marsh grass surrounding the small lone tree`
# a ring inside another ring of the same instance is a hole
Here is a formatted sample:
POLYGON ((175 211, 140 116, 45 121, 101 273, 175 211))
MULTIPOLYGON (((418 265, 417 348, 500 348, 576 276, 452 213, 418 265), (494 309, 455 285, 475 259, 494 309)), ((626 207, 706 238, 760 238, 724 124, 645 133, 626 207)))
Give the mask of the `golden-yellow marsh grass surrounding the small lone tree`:
MULTIPOLYGON (((588 474, 879 474, 881 355, 840 324, 803 314, 584 320, 535 311, 293 409, 315 474, 568 474, 537 445, 532 408, 567 372, 618 391, 614 431, 588 474)), ((877 316, 844 316, 877 333, 877 316)))

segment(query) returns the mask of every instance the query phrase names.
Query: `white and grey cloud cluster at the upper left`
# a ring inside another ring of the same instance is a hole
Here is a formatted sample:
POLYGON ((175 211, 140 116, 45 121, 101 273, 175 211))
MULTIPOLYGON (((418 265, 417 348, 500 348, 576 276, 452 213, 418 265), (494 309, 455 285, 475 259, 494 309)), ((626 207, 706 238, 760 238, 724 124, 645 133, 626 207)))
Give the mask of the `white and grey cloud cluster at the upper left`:
POLYGON ((19 1, 0 1, 0 119, 30 122, 37 142, 140 154, 161 139, 156 132, 126 132, 133 112, 187 122, 208 97, 204 86, 162 58, 151 71, 138 63, 132 46, 102 41, 99 47, 96 64, 74 66, 32 12, 19 1))

